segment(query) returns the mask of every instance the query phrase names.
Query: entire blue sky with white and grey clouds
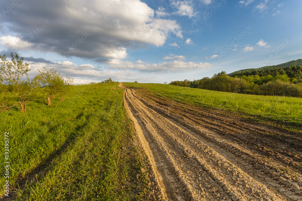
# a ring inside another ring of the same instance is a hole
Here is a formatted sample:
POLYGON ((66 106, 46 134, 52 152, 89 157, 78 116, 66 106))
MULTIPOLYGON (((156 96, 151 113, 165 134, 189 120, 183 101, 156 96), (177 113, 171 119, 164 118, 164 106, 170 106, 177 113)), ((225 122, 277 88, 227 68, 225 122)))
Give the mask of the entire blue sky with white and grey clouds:
POLYGON ((199 80, 302 58, 301 0, 1 0, 0 55, 74 84, 199 80))

